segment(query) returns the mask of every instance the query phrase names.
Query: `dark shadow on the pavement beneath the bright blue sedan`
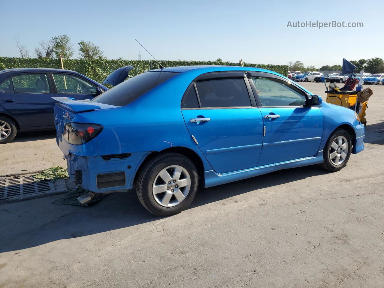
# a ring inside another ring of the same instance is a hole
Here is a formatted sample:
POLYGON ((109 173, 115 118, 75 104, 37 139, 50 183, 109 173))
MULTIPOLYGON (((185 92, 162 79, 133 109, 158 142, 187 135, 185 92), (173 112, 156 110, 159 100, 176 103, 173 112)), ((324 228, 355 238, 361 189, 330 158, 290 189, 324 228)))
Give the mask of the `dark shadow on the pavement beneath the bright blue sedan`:
MULTIPOLYGON (((198 209, 199 206, 236 195, 252 191, 258 193, 258 190, 266 187, 326 173, 318 166, 306 166, 199 189, 189 209, 198 209)), ((0 245, 0 252, 35 247, 61 239, 93 235, 161 219, 148 212, 134 192, 116 193, 91 207, 56 205, 55 209, 52 209, 52 205, 55 205, 52 204, 52 199, 47 197, 19 202, 12 210, 7 204, 0 206, 0 218, 8 222, 1 225, 4 233, 0 236, 0 243, 3 243, 0 245), (36 209, 36 219, 33 219, 31 225, 31 212, 36 209)))

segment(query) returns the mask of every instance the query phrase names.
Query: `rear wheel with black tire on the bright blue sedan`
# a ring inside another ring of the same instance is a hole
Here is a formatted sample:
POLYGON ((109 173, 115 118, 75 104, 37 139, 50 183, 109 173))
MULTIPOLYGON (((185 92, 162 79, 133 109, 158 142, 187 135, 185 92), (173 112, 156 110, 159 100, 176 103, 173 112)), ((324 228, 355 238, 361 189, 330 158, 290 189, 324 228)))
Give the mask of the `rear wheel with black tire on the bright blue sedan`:
POLYGON ((136 193, 141 204, 158 216, 175 215, 195 198, 199 177, 187 157, 164 153, 149 161, 137 178, 136 193))

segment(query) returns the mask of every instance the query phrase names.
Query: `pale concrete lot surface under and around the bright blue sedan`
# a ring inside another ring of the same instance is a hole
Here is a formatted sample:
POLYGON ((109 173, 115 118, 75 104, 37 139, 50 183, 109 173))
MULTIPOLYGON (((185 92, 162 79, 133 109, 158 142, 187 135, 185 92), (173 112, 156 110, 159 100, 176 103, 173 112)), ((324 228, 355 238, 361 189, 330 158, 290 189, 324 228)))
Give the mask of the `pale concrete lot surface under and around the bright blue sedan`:
MULTIPOLYGON (((324 96, 323 83, 303 86, 324 96)), ((200 189, 168 218, 131 192, 92 207, 0 204, 0 287, 383 287, 384 86, 371 88, 366 149, 336 173, 200 189)), ((35 144, 48 140, 27 142, 29 162, 58 150, 35 144)))

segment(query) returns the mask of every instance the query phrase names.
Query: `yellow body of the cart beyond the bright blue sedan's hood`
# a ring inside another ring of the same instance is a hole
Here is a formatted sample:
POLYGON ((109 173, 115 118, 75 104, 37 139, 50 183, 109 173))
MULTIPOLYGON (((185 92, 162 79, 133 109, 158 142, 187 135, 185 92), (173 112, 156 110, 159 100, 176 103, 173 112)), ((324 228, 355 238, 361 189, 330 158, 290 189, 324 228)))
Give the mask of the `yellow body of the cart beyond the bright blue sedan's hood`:
MULTIPOLYGON (((358 98, 356 91, 325 91, 327 93, 327 103, 343 106, 355 110, 356 100, 358 98)), ((357 103, 356 113, 359 114, 360 122, 366 126, 367 119, 365 112, 368 108, 368 101, 357 103)))

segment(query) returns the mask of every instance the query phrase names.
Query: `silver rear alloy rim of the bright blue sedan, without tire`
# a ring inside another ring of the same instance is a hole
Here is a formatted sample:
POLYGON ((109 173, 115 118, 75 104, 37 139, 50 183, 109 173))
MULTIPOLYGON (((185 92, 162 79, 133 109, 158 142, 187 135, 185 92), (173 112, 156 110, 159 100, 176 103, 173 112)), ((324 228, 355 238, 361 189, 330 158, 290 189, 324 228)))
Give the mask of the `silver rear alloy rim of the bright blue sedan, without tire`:
POLYGON ((187 169, 172 165, 165 167, 156 175, 152 195, 159 205, 173 207, 187 197, 190 187, 191 179, 187 169))

